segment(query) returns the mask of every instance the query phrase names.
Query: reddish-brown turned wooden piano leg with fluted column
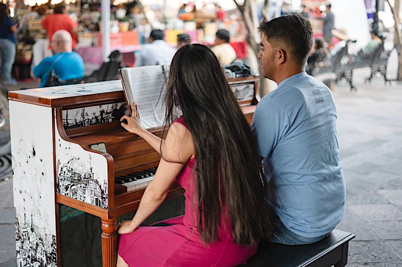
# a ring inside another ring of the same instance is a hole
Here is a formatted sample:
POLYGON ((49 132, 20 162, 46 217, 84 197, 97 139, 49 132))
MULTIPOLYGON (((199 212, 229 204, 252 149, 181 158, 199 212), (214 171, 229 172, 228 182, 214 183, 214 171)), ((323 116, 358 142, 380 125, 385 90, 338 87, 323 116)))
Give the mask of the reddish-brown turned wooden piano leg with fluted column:
POLYGON ((116 267, 117 263, 117 219, 102 218, 102 262, 103 267, 116 267))

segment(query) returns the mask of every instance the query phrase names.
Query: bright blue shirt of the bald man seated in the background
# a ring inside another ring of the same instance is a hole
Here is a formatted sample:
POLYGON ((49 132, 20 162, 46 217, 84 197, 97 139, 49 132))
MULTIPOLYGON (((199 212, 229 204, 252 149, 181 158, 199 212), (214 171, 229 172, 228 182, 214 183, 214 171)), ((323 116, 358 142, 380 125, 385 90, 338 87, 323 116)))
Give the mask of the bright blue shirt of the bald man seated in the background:
POLYGON ((44 58, 38 66, 32 69, 35 77, 41 78, 40 87, 46 85, 51 69, 62 80, 77 79, 84 76, 84 61, 74 51, 71 53, 62 52, 53 57, 44 58))

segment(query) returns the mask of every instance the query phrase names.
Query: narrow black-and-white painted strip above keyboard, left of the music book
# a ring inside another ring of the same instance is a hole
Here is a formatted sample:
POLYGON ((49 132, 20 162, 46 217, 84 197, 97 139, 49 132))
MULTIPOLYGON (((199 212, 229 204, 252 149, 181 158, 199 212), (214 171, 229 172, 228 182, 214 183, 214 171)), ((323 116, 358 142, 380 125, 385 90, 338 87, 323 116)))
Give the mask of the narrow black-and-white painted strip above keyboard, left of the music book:
POLYGON ((127 104, 126 102, 121 102, 63 110, 62 117, 65 128, 75 128, 119 121, 125 114, 128 114, 127 104))

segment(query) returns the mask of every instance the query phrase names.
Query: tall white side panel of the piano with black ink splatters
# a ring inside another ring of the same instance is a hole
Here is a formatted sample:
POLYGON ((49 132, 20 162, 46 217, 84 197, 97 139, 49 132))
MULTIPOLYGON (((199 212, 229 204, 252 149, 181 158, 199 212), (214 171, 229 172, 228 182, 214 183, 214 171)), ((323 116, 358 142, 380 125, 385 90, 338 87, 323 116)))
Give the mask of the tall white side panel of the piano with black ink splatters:
POLYGON ((56 266, 52 109, 10 101, 18 266, 56 266))

